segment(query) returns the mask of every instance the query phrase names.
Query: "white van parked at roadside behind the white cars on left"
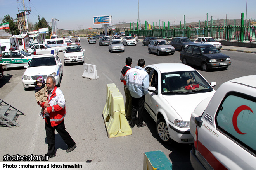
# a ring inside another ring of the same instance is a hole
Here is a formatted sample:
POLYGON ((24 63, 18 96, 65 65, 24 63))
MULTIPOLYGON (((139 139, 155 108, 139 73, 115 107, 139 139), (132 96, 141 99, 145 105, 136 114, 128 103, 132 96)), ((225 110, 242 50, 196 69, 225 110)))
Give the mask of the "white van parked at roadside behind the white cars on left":
POLYGON ((45 39, 43 42, 43 44, 46 44, 50 47, 57 47, 59 51, 65 51, 68 46, 67 43, 73 42, 68 38, 45 39))

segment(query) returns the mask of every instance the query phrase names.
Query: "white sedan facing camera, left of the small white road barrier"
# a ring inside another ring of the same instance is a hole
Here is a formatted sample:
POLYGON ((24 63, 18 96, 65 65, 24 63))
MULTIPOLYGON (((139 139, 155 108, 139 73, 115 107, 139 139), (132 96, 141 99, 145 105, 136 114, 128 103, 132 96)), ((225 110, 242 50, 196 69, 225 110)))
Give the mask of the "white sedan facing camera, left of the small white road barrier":
POLYGON ((64 52, 64 65, 67 63, 84 63, 84 49, 81 46, 68 46, 64 52))

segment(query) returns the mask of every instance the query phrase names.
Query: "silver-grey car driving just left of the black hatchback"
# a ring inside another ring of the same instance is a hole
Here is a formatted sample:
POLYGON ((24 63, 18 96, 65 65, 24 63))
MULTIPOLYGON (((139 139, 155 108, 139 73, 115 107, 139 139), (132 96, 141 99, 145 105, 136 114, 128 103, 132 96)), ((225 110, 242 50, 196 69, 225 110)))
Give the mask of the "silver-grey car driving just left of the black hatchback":
POLYGON ((169 44, 168 41, 164 39, 156 39, 150 42, 148 46, 149 53, 157 53, 158 56, 161 54, 171 54, 173 55, 175 52, 175 49, 173 46, 169 44))

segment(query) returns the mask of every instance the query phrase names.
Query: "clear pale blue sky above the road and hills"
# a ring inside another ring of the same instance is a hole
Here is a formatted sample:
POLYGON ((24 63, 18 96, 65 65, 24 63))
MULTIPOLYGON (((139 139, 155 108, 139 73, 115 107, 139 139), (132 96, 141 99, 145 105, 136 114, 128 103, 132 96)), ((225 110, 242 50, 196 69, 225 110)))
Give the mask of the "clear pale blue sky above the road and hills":
MULTIPOLYGON (((5 15, 16 18, 19 10, 23 10, 21 0, 0 0, 0 23, 5 15)), ((256 0, 247 0, 247 18, 256 19, 256 0)), ((138 19, 138 0, 25 0, 29 22, 35 24, 44 17, 47 22, 51 18, 59 20, 58 29, 78 30, 88 27, 100 27, 93 25, 93 16, 112 15, 113 24, 118 22, 135 22, 138 19)), ((145 20, 156 26, 156 22, 167 26, 184 23, 216 19, 240 19, 244 12, 246 17, 246 0, 139 0, 140 20, 145 20)))

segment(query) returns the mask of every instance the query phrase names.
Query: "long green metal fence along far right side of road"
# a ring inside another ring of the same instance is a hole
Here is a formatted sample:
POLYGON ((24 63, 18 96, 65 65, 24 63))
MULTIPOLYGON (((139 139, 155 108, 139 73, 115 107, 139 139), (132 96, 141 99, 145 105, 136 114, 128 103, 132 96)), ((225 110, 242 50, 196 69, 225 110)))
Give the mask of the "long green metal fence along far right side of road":
POLYGON ((227 27, 205 27, 205 28, 174 28, 174 29, 152 29, 125 31, 125 35, 134 35, 140 37, 188 37, 197 39, 198 37, 213 37, 227 41, 250 41, 256 42, 256 27, 253 26, 227 26, 227 27))

